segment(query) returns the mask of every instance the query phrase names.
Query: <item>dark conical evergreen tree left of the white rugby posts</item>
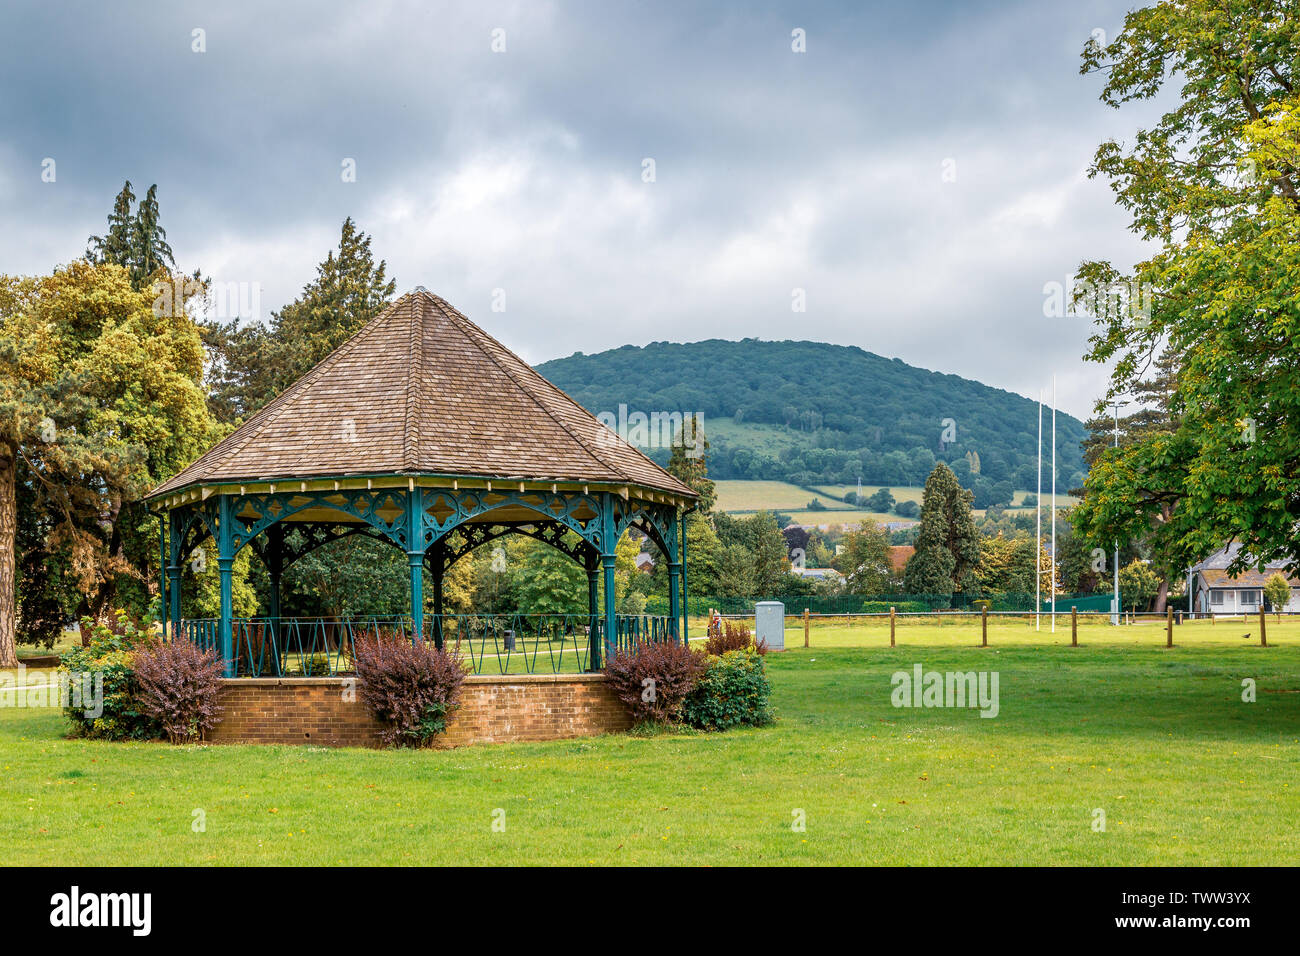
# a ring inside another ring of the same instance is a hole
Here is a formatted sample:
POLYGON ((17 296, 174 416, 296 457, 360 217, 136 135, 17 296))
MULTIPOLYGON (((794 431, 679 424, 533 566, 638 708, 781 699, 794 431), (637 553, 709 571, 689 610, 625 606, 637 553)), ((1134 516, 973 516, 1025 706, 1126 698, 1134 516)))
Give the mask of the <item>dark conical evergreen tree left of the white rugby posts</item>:
POLYGON ((916 551, 907 561, 904 587, 913 594, 952 594, 979 587, 979 535, 972 494, 940 462, 926 480, 916 551))

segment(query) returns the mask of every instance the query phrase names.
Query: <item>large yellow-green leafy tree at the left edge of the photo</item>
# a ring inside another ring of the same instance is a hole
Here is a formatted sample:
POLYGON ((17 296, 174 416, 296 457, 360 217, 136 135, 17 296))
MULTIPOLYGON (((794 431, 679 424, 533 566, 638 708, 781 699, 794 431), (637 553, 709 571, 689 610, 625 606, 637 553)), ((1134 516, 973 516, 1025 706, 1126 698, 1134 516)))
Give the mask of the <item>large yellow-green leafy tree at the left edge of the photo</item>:
POLYGON ((118 265, 0 278, 0 663, 13 658, 20 460, 78 617, 103 619, 124 579, 151 574, 156 591, 140 496, 217 432, 198 329, 152 304, 118 265))

